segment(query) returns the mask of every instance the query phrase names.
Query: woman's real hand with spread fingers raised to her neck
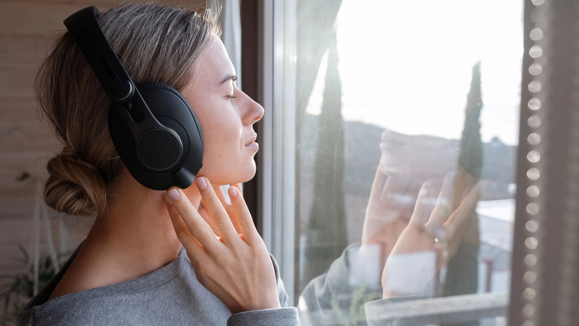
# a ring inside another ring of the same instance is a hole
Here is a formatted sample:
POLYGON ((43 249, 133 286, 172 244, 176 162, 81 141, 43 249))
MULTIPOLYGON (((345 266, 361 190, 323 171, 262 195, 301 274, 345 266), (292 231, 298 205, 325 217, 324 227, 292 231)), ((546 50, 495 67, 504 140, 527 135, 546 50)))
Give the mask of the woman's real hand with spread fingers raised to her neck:
POLYGON ((175 233, 187 250, 197 280, 232 314, 281 307, 272 260, 239 189, 229 187, 229 198, 241 234, 234 229, 207 178, 197 177, 195 183, 220 237, 181 189, 170 187, 166 201, 175 233))

